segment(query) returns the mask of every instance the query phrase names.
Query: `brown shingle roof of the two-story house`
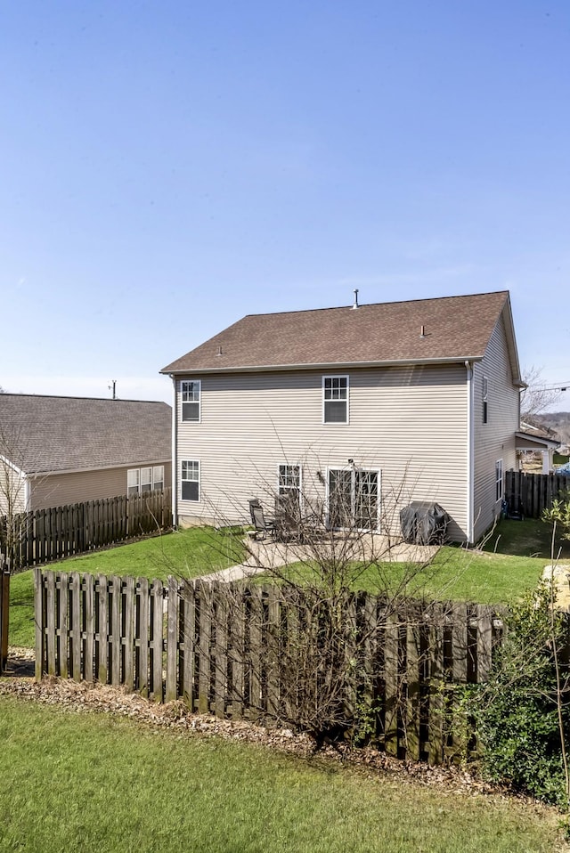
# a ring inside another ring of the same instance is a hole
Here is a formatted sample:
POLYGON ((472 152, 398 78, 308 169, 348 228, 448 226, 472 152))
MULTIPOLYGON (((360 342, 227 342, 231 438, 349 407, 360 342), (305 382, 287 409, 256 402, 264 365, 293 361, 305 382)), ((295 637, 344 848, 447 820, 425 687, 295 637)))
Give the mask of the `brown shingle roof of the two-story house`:
POLYGON ((248 314, 161 372, 478 359, 506 306, 509 293, 499 291, 248 314))

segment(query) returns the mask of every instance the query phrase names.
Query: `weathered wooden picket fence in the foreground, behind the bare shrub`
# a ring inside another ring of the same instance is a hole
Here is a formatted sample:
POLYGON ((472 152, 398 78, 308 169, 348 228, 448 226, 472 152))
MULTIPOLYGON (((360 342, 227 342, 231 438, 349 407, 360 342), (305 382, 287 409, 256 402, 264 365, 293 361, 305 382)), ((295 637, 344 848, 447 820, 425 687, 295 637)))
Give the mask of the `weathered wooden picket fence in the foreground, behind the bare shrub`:
MULTIPOLYGON (((322 602, 289 588, 36 569, 36 676, 100 681, 191 711, 311 729, 362 722, 387 752, 437 763, 456 742, 454 688, 485 680, 493 607, 342 602, 334 650, 322 602), (329 703, 329 707, 323 707, 329 703)), ((329 613, 330 616, 330 613, 329 613)))

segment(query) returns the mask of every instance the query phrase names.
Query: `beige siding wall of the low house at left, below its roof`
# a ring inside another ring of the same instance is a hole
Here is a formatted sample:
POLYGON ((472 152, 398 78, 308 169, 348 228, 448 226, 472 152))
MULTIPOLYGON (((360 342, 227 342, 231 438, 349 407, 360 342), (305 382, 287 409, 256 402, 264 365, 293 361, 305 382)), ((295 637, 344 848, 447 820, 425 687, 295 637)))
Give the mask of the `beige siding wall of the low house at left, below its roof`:
MULTIPOLYGON (((148 464, 164 465, 165 486, 168 487, 172 479, 171 463, 155 462, 148 464)), ((114 498, 116 495, 125 495, 126 472, 133 467, 145 467, 145 463, 141 463, 140 466, 129 465, 118 468, 104 468, 99 471, 39 476, 35 480, 30 477, 31 508, 62 507, 66 504, 82 503, 85 500, 100 500, 102 498, 114 498)))

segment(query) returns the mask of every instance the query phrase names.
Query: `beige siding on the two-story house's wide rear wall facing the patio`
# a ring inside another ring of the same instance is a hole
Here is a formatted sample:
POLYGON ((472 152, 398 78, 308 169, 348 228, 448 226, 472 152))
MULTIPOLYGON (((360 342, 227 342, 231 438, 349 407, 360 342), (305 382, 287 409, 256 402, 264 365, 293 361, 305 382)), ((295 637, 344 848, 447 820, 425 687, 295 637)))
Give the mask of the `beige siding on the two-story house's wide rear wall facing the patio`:
MULTIPOLYGON (((346 370, 327 370, 344 376, 346 370)), ((242 522, 248 500, 274 494, 277 466, 301 464, 305 491, 324 500, 326 472, 377 469, 391 526, 410 500, 437 500, 452 535, 467 531, 466 369, 451 366, 349 371, 349 423, 322 423, 322 371, 202 375, 201 423, 177 417, 177 474, 200 463, 200 500, 178 501, 181 521, 242 522), (398 500, 394 494, 398 493, 398 500)), ((180 407, 177 382, 176 414, 180 407)), ((384 521, 387 524, 387 521, 384 521)))

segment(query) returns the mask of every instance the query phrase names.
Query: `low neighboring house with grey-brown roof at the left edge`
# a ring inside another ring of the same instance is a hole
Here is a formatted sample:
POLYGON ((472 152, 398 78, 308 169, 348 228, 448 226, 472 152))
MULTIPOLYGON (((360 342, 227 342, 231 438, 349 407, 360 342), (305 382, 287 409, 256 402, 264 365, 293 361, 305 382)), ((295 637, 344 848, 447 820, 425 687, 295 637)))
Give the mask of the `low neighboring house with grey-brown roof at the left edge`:
POLYGON ((0 515, 171 482, 166 402, 0 394, 0 515))

